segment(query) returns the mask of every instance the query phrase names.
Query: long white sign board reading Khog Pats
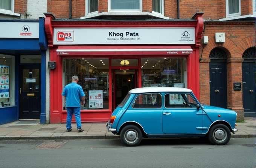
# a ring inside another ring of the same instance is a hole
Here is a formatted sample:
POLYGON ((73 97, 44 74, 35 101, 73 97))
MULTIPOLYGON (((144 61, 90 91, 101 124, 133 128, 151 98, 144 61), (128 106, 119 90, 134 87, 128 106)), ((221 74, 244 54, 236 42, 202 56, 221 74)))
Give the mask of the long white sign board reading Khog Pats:
POLYGON ((195 28, 54 28, 53 44, 195 44, 195 28))

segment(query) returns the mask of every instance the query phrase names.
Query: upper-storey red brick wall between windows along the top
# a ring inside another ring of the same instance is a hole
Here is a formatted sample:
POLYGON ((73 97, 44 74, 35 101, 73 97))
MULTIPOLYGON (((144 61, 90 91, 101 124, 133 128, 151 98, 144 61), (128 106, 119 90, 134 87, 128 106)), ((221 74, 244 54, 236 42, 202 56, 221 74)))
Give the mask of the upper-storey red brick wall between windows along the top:
MULTIPOLYGON (((17 1, 22 2, 23 4, 23 0, 17 1)), ((53 13, 56 18, 69 18, 69 0, 47 0, 47 5, 48 12, 53 13)), ((142 6, 143 12, 152 12, 152 0, 142 0, 142 6)), ((205 20, 226 18, 225 0, 179 0, 179 6, 180 19, 190 19, 196 12, 204 12, 203 17, 205 20)), ((18 5, 16 10, 23 12, 23 5, 18 5)), ((252 1, 241 0, 241 14, 252 14, 252 11, 252 1)), ((108 0, 99 0, 99 13, 102 12, 108 12, 108 0)), ((165 0, 164 12, 166 17, 177 19, 177 0, 165 0)), ((80 18, 84 16, 85 0, 72 0, 72 18, 80 18)))

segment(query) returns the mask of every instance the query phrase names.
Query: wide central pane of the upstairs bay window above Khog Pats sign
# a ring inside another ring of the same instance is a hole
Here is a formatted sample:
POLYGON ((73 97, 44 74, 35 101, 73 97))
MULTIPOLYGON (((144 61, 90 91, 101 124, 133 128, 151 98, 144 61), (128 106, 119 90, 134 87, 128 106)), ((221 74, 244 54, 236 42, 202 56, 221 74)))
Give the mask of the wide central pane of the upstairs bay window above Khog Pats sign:
POLYGON ((115 10, 114 12, 141 12, 142 0, 108 0, 109 9, 115 10))

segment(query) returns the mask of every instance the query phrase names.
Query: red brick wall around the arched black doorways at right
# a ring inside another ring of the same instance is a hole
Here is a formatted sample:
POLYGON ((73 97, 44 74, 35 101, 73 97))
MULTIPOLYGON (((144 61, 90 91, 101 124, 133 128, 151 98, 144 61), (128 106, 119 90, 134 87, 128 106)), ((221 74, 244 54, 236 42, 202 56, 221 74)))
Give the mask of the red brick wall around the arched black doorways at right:
POLYGON ((208 36, 208 44, 200 47, 200 101, 210 105, 209 54, 213 48, 223 49, 227 54, 227 106, 238 113, 238 119, 244 119, 242 91, 234 91, 233 83, 242 83, 242 54, 255 45, 255 24, 249 22, 205 22, 202 36, 208 36), (216 43, 215 33, 225 33, 225 42, 216 43), (203 52, 202 52, 203 49, 203 52))

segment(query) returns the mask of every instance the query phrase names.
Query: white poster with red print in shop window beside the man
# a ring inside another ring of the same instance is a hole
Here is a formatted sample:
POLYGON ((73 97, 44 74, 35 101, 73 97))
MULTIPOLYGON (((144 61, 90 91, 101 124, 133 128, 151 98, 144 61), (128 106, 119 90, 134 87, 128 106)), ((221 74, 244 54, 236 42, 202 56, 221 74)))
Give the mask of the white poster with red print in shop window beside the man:
POLYGON ((103 108, 103 90, 89 90, 89 108, 103 108))

